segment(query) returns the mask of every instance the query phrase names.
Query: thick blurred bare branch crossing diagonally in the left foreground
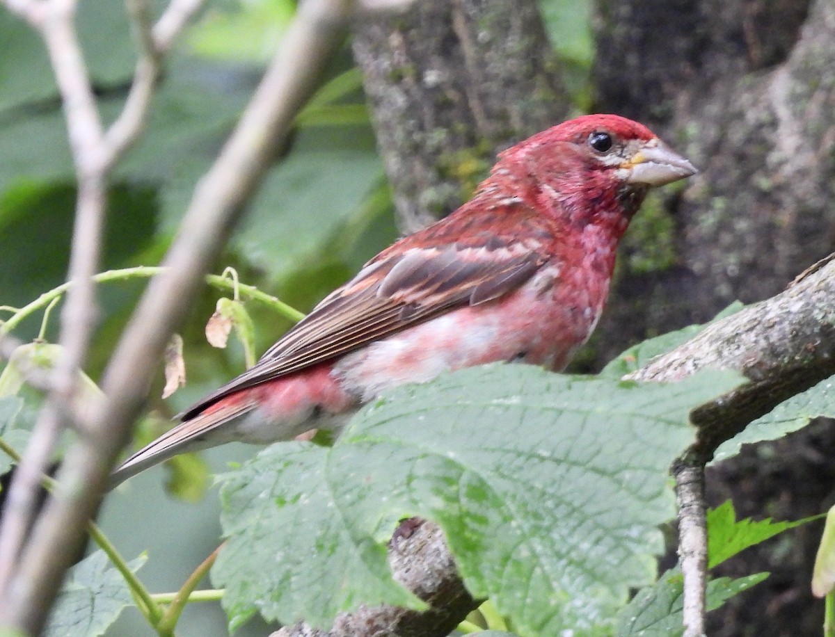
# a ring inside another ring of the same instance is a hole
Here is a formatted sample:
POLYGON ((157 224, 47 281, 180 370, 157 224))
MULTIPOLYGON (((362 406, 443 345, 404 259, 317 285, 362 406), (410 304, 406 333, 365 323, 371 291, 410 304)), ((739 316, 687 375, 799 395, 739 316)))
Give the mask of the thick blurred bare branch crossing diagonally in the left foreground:
POLYGON ((272 149, 311 94, 351 7, 350 0, 301 4, 240 124, 200 180, 180 235, 166 256, 170 270, 152 281, 140 301, 104 372, 102 387, 108 399, 85 427, 87 435, 68 450, 58 488, 34 525, 13 585, 0 598, 4 626, 33 634, 43 626, 109 470, 143 406, 164 346, 256 189, 272 149))

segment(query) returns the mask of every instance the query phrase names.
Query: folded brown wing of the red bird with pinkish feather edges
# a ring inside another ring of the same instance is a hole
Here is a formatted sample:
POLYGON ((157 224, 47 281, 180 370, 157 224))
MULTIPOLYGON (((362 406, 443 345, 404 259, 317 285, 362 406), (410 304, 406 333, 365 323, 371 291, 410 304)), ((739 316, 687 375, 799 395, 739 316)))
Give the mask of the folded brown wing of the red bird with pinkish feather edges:
MULTIPOLYGON (((407 247, 409 239, 399 245, 407 247)), ((532 250, 531 243, 508 243, 492 235, 488 246, 446 244, 407 247, 397 254, 387 251, 321 301, 254 367, 182 417, 195 417, 232 392, 342 356, 452 306, 478 305, 503 296, 543 265, 544 256, 532 250)))

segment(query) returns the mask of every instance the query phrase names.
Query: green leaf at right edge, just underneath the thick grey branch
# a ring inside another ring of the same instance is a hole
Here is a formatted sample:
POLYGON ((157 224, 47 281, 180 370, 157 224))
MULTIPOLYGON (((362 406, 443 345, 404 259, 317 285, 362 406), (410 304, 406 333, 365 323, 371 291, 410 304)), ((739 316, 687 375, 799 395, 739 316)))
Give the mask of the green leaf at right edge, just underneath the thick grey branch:
POLYGON ((795 432, 817 417, 835 417, 835 377, 829 377, 805 392, 792 396, 774 407, 772 412, 751 422, 742 432, 716 449, 713 462, 736 456, 743 444, 776 440, 795 432))

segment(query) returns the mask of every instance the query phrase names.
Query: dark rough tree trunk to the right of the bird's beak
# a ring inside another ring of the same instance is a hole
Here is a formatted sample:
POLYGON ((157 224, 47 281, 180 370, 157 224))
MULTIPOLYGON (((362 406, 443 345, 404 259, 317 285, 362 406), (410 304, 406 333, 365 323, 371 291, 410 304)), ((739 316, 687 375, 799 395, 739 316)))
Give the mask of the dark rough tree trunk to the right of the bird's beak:
POLYGON ((666 211, 669 267, 622 260, 605 361, 772 296, 831 251, 835 5, 605 0, 600 16, 598 108, 644 121, 701 168, 666 211))

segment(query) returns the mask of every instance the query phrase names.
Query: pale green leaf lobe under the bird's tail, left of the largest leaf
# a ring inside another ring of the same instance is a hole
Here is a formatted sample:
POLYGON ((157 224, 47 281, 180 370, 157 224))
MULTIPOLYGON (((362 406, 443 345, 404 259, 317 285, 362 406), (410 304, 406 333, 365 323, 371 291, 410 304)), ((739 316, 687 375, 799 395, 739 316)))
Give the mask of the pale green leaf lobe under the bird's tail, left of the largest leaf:
POLYGON ((304 617, 324 626, 340 610, 362 603, 422 608, 393 582, 385 547, 362 537, 335 510, 321 470, 324 447, 269 448, 273 452, 259 455, 261 462, 220 476, 221 524, 231 539, 212 579, 225 583, 230 632, 256 610, 282 624, 304 617))

